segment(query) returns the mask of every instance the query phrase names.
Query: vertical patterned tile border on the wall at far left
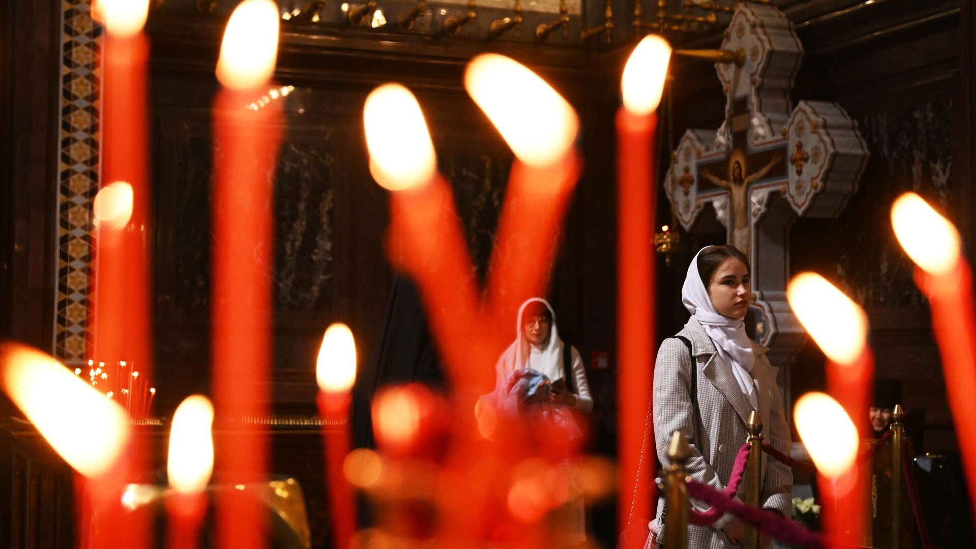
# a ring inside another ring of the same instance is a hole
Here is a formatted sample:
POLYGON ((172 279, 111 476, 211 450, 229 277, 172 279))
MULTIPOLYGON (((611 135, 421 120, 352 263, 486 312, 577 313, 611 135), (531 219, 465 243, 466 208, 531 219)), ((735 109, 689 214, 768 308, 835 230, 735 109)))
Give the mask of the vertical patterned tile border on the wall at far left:
POLYGON ((92 285, 92 201, 99 189, 102 27, 91 0, 62 0, 61 129, 58 178, 58 279, 55 357, 85 357, 92 285))

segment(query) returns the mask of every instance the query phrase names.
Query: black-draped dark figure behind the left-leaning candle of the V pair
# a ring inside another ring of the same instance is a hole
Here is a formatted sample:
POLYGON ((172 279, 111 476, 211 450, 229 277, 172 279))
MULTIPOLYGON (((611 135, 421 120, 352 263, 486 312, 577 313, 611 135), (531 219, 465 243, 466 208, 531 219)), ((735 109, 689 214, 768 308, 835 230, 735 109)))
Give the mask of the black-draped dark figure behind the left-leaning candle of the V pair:
POLYGON ((353 447, 376 446, 370 407, 377 390, 385 385, 411 382, 442 389, 444 375, 417 287, 397 274, 389 290, 380 335, 352 388, 353 447))

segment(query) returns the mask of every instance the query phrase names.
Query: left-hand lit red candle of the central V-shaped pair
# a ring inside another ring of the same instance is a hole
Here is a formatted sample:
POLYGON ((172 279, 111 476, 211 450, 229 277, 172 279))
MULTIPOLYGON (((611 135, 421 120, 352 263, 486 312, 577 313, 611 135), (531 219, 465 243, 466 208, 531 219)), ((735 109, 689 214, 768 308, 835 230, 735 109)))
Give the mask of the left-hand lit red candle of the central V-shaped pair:
MULTIPOLYGON (((479 335, 474 279, 454 199, 436 172, 427 122, 417 99, 398 84, 374 90, 363 108, 370 172, 392 190, 387 255, 417 282, 452 386, 462 394, 491 389, 479 335), (487 388, 486 388, 487 387, 487 388)), ((467 419, 467 416, 466 416, 467 419)))

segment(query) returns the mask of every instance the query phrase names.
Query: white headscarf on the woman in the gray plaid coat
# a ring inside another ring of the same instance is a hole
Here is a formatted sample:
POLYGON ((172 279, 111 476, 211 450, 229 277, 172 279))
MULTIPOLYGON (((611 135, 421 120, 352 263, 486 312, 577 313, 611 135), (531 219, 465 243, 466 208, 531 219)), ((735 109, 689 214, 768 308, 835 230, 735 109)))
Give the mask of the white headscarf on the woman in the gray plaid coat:
POLYGON ((691 313, 705 328, 705 333, 712 338, 712 343, 715 344, 715 349, 718 350, 721 358, 732 365, 735 380, 754 409, 758 407, 755 387, 752 384, 752 363, 755 355, 752 353, 749 336, 746 335, 746 322, 742 319, 722 317, 715 312, 709 290, 705 287, 702 276, 698 274, 698 256, 711 247, 702 248, 695 254, 695 259, 691 260, 688 274, 684 277, 684 285, 681 287, 681 302, 684 303, 688 313, 691 313))

